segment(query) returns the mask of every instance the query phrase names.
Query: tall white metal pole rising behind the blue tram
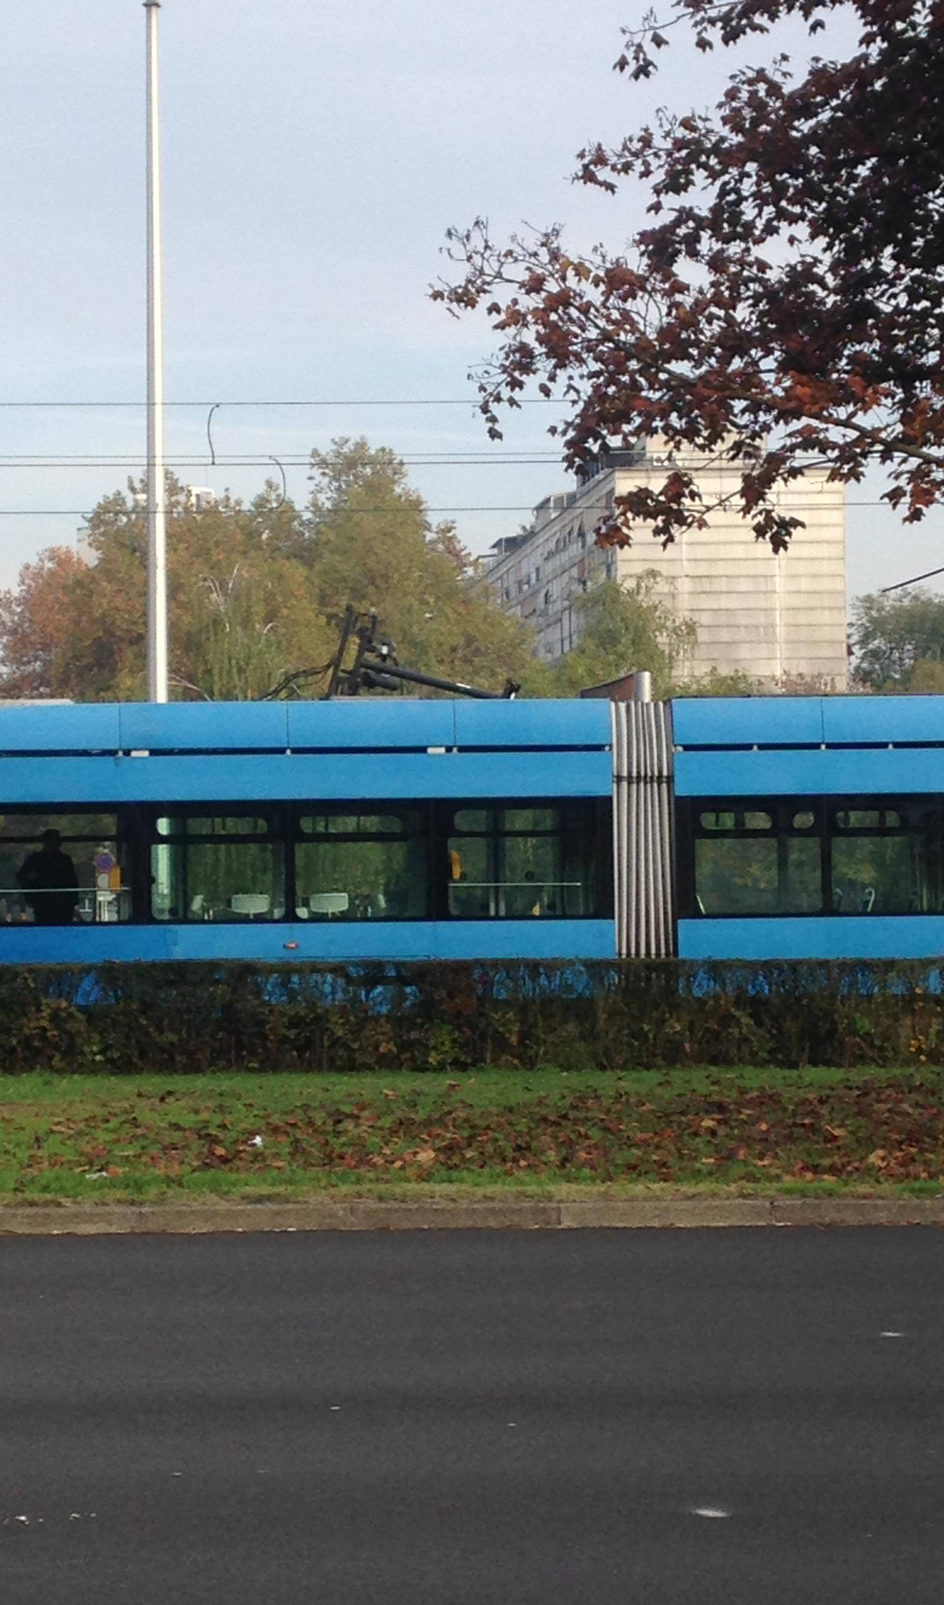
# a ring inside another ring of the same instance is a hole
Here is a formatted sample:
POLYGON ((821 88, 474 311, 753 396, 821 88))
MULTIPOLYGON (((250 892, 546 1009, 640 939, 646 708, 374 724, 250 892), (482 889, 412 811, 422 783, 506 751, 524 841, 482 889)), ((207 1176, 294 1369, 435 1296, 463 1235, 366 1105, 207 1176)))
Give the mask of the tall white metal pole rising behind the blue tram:
POLYGON ((148 16, 148 700, 167 701, 167 488, 164 477, 164 271, 157 13, 148 16))

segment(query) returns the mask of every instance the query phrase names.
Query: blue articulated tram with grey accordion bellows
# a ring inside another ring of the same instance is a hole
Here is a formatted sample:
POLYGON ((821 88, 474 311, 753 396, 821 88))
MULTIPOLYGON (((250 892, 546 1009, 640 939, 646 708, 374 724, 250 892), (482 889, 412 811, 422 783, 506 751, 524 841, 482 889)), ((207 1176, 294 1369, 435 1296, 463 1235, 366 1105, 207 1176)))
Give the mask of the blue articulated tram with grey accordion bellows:
POLYGON ((944 698, 0 706, 0 961, 928 958, 944 698))

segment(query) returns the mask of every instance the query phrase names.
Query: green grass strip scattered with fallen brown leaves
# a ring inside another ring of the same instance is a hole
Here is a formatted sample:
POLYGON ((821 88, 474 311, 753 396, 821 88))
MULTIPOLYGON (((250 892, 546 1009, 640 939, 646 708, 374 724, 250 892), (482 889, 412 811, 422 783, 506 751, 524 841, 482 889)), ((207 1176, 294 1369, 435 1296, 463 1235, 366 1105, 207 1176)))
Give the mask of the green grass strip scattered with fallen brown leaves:
POLYGON ((938 1072, 22 1075, 0 1080, 0 1201, 938 1193, 938 1072))

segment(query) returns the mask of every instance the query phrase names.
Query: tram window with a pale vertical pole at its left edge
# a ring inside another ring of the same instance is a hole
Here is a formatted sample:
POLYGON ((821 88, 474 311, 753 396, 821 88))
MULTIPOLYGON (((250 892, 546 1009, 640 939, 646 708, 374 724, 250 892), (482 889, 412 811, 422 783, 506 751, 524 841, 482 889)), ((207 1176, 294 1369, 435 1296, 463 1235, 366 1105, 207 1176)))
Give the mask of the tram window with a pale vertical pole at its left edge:
POLYGON ((265 819, 186 814, 157 820, 151 847, 156 920, 281 920, 286 912, 284 846, 265 819))

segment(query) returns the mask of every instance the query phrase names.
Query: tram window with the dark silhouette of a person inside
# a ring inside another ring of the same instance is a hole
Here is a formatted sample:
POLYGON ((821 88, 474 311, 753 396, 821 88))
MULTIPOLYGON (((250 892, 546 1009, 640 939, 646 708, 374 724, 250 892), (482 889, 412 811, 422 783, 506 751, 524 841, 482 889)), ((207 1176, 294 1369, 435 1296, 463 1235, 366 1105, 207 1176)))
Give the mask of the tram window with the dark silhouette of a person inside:
POLYGON ((0 814, 0 924, 130 920, 116 814, 0 814))

